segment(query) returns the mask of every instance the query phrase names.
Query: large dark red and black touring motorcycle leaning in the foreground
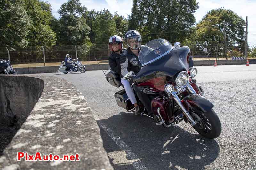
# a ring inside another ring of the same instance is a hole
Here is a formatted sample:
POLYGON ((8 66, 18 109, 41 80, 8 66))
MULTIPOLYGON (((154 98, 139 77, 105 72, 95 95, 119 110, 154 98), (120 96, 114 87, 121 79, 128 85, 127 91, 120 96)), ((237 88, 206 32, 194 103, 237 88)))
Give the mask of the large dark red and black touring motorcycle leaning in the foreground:
MULTIPOLYGON (((187 46, 180 47, 180 43, 174 46, 165 39, 149 41, 139 53, 141 70, 137 75, 129 72, 124 79, 148 94, 155 117, 154 124, 170 127, 184 120, 202 136, 216 138, 221 133, 220 119, 212 109, 213 104, 203 97, 202 87, 196 85, 193 79, 197 69, 188 66, 190 49, 187 46)), ((112 71, 106 75, 106 79, 113 86, 122 86, 112 71)), ((134 110, 124 89, 114 96, 118 106, 128 112, 134 110)), ((137 101, 142 108, 141 115, 153 119, 140 100, 137 101)))

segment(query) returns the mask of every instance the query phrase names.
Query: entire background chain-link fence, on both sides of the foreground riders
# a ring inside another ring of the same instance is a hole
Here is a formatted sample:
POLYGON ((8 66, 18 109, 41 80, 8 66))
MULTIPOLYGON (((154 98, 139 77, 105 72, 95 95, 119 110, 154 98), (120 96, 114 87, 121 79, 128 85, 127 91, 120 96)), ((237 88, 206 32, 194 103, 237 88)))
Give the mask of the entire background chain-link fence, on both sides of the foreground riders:
MULTIPOLYGON (((174 43, 172 43, 174 44, 174 43)), ((225 58, 224 44, 198 45, 198 44, 181 44, 188 46, 191 55, 194 58, 225 58), (204 48, 207 52, 204 52, 204 48)), ((41 46, 27 48, 6 48, 0 47, 0 59, 8 60, 8 51, 12 64, 28 64, 28 63, 53 63, 64 61, 65 55, 69 54, 71 58, 79 61, 98 61, 108 60, 109 53, 108 45, 97 45, 92 47, 87 46, 41 46)), ((228 46, 226 50, 228 59, 232 56, 244 57, 244 44, 241 46, 228 46)))

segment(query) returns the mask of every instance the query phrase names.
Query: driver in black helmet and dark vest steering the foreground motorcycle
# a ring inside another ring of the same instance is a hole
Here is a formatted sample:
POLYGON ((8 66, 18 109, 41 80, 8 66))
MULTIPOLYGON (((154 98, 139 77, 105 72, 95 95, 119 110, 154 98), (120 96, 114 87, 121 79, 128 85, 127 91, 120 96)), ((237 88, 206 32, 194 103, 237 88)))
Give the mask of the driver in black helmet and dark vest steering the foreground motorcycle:
MULTIPOLYGON (((141 69, 141 63, 139 61, 139 52, 141 47, 141 36, 140 33, 136 30, 127 31, 124 36, 124 41, 127 44, 128 48, 120 58, 121 65, 121 76, 124 77, 128 72, 133 71, 134 74, 137 74, 141 69)), ((139 88, 134 86, 137 96, 140 101, 146 107, 149 115, 153 115, 151 109, 151 100, 148 98, 148 95, 141 92, 139 88)))

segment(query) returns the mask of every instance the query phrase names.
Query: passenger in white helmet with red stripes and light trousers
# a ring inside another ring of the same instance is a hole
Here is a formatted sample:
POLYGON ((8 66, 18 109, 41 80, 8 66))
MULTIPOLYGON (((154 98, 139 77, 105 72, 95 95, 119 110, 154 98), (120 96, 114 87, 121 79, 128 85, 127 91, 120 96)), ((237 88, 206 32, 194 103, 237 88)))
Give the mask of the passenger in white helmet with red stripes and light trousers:
MULTIPOLYGON (((108 45, 110 50, 112 51, 112 53, 108 57, 109 66, 111 70, 117 73, 118 76, 121 78, 120 56, 123 53, 123 40, 120 36, 113 35, 109 38, 108 45)), ((129 81, 122 78, 121 83, 124 85, 124 89, 127 93, 127 96, 129 97, 129 99, 131 100, 132 104, 135 107, 135 112, 139 112, 137 100, 132 91, 129 81)))

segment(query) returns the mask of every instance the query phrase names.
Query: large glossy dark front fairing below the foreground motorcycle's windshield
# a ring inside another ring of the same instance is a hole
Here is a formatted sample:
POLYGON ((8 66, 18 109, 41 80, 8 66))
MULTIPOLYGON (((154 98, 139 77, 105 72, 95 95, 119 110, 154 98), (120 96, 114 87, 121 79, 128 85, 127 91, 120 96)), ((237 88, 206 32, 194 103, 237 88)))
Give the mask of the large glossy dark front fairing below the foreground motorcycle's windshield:
POLYGON ((175 48, 162 58, 142 67, 133 78, 133 82, 138 86, 144 86, 145 84, 141 83, 152 81, 158 77, 165 78, 164 83, 167 81, 174 82, 177 73, 188 69, 187 55, 189 53, 190 49, 187 46, 175 48))

